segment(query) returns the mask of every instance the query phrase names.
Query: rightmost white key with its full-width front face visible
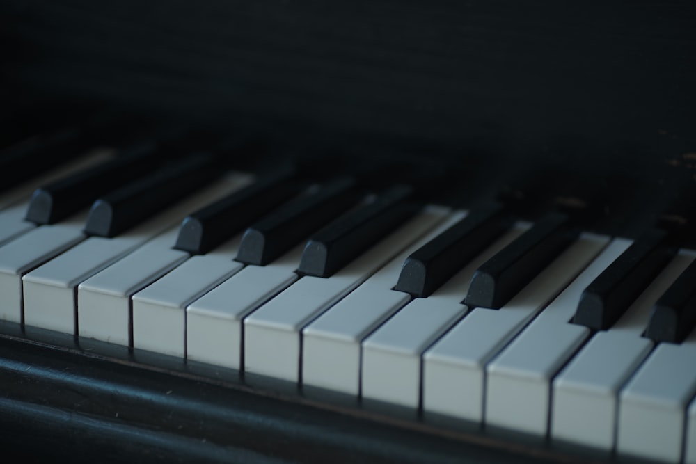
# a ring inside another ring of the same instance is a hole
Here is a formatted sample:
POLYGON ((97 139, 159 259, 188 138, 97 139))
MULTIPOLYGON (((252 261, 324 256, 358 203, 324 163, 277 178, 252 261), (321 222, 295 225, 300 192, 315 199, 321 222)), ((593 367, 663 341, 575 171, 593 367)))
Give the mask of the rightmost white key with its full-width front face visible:
POLYGON ((682 344, 661 343, 619 393, 617 452, 678 463, 686 408, 696 393, 696 330, 682 344))

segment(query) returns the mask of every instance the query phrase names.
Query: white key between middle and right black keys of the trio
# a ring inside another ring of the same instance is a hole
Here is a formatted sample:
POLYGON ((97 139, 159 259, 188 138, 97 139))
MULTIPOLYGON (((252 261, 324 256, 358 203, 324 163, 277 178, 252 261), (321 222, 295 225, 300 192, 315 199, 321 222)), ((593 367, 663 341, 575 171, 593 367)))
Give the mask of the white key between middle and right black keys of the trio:
POLYGON ((304 243, 267 266, 246 266, 187 306, 187 358, 244 369, 242 321, 298 279, 303 250, 304 243))

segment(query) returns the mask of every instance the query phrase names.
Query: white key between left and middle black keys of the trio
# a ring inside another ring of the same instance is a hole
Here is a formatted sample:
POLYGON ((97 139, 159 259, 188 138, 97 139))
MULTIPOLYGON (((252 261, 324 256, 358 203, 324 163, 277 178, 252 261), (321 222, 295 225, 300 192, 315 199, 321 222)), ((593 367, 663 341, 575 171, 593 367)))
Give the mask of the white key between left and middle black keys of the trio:
POLYGON ((133 347, 186 358, 186 307, 237 273, 242 234, 190 257, 132 296, 133 347))

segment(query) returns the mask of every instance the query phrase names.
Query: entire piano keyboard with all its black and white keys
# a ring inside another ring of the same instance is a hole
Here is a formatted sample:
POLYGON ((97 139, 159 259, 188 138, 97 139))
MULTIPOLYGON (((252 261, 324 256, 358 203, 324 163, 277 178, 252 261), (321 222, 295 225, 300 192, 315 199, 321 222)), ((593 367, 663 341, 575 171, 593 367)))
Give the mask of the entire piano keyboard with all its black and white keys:
POLYGON ((406 185, 220 173, 202 154, 109 185, 123 159, 89 152, 3 192, 3 333, 696 463, 696 250, 667 232, 424 205, 406 185))

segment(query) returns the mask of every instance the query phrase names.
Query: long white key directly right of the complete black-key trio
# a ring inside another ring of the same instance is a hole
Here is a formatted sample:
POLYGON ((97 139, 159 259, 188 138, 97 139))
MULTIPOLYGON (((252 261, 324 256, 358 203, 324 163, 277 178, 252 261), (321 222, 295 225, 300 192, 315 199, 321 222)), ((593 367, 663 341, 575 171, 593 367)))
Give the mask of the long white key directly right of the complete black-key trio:
POLYGON ((445 220, 426 207, 329 278, 303 276, 244 319, 244 370, 287 381, 301 376, 301 330, 404 248, 445 220))

